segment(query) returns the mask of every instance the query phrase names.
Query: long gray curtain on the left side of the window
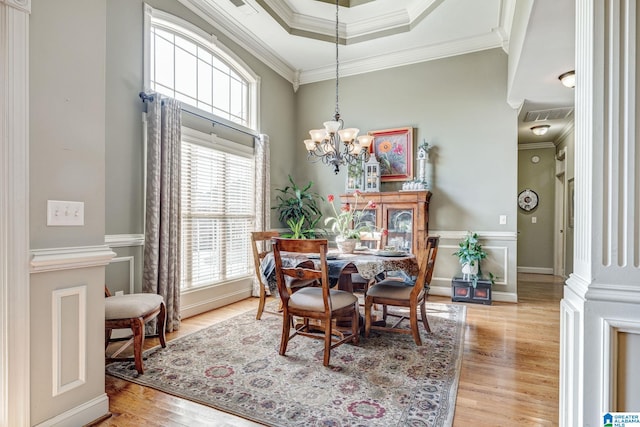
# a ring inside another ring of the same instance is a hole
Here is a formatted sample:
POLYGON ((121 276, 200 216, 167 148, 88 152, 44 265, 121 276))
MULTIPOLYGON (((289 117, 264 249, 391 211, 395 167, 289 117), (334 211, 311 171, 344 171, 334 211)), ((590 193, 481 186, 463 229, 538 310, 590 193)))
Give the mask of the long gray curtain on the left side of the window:
POLYGON ((142 290, 164 297, 167 332, 180 328, 180 126, 180 103, 154 94, 147 104, 142 290))

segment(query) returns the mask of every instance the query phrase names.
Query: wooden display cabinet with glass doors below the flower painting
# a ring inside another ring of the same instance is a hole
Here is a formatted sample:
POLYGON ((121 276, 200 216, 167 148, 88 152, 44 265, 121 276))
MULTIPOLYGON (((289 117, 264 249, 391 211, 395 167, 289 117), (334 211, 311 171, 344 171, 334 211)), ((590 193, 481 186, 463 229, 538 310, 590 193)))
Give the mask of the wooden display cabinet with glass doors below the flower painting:
MULTIPOLYGON (((424 249, 429 235, 429 200, 431 192, 427 190, 393 191, 382 193, 360 193, 358 209, 369 201, 375 203, 375 209, 368 209, 366 215, 378 229, 385 228, 388 235, 383 237, 382 245, 393 245, 398 249, 417 254, 424 249)), ((353 205, 353 194, 342 194, 343 206, 353 205)))

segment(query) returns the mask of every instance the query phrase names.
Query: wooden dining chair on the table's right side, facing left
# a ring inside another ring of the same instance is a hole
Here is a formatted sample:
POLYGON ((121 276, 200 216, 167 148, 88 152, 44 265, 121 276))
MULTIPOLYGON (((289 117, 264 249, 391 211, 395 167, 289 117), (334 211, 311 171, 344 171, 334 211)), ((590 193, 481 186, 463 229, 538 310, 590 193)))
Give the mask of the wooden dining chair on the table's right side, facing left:
POLYGON ((422 319, 424 329, 429 333, 431 332, 427 320, 426 302, 429 296, 429 284, 433 276, 439 242, 439 236, 427 237, 427 247, 419 255, 420 271, 415 283, 406 283, 397 279, 385 279, 369 288, 364 303, 365 337, 369 336, 371 329, 398 332, 413 335, 416 345, 422 345, 418 321, 422 319), (374 304, 382 306, 384 325, 373 324, 371 321, 371 308, 374 304), (387 309, 388 306, 409 308, 409 314, 407 316, 406 314, 390 313, 387 309), (420 317, 418 317, 418 307, 420 307, 420 317), (386 326, 388 316, 398 317, 399 319, 391 326, 386 326), (407 318, 410 322, 410 329, 400 326, 400 323, 407 318))

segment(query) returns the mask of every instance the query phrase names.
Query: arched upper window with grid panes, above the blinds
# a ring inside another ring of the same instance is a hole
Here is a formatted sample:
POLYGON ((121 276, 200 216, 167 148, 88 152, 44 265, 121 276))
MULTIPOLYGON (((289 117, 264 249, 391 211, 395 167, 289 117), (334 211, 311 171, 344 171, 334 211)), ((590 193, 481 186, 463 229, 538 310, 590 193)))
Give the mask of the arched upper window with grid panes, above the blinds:
POLYGON ((259 78, 215 36, 145 7, 145 90, 257 130, 259 78))

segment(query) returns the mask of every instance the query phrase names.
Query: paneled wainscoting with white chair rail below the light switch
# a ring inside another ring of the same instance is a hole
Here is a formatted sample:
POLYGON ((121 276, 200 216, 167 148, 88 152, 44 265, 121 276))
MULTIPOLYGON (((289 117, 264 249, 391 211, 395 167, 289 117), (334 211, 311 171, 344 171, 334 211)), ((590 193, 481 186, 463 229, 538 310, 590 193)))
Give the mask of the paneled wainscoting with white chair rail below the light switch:
POLYGON ((104 342, 88 331, 104 326, 104 267, 113 256, 106 245, 31 250, 30 318, 40 325, 31 328, 39 355, 31 367, 49 385, 31 388, 32 424, 84 425, 109 411, 99 391, 104 342))

